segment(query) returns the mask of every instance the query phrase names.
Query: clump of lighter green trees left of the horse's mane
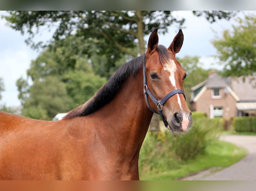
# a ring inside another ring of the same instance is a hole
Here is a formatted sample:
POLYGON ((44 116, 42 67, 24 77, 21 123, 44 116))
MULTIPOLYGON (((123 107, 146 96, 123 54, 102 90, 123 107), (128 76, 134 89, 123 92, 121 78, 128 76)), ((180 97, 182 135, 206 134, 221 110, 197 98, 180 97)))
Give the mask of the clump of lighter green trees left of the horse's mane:
POLYGON ((66 65, 68 61, 60 56, 59 51, 46 49, 41 52, 31 62, 27 80, 17 80, 23 115, 52 119, 56 113, 68 112, 84 103, 106 83, 105 77, 95 75, 85 55, 73 55, 76 65, 72 69, 66 65), (28 79, 33 82, 31 86, 28 85, 28 79))

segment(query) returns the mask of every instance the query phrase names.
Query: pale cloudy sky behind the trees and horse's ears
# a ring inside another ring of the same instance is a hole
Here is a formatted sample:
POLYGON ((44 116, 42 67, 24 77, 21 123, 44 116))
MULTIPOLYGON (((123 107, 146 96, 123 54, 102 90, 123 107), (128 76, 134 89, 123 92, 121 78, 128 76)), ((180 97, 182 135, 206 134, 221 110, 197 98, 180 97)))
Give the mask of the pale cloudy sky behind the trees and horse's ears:
MULTIPOLYGON (((252 13, 256 15, 256 11, 240 12, 237 16, 243 17, 244 13, 252 13)), ((0 11, 0 15, 6 15, 5 11, 0 11)), ((211 41, 221 38, 224 30, 232 30, 232 25, 236 25, 235 18, 230 21, 219 20, 210 24, 204 17, 196 17, 191 11, 175 12, 178 17, 186 19, 182 31, 184 34, 183 46, 177 57, 199 56, 200 62, 204 69, 215 68, 221 70, 222 65, 218 64, 218 60, 213 58, 217 55, 217 50, 211 41)), ((157 26, 156 26, 157 27, 157 26)), ((173 37, 178 32, 176 26, 171 26, 168 33, 159 34, 159 44, 168 47, 173 37)), ((47 41, 51 38, 53 31, 43 30, 36 38, 47 41)), ((6 26, 6 21, 0 17, 0 78, 3 79, 5 91, 1 92, 2 99, 0 105, 5 104, 8 107, 21 105, 18 99, 18 90, 16 81, 23 77, 27 78, 26 71, 30 67, 32 60, 35 60, 40 50, 32 50, 25 43, 27 34, 21 35, 19 31, 6 26)), ((147 41, 149 36, 145 36, 147 41)))

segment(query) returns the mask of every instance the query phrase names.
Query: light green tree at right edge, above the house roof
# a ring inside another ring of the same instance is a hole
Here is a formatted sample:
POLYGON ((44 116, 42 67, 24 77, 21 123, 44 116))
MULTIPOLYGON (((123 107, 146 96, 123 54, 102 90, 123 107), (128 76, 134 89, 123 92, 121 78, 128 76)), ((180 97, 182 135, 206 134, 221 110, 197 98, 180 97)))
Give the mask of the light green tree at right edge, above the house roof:
POLYGON ((253 75, 256 72, 256 16, 238 19, 238 26, 225 30, 212 43, 218 58, 224 64, 225 76, 253 75))

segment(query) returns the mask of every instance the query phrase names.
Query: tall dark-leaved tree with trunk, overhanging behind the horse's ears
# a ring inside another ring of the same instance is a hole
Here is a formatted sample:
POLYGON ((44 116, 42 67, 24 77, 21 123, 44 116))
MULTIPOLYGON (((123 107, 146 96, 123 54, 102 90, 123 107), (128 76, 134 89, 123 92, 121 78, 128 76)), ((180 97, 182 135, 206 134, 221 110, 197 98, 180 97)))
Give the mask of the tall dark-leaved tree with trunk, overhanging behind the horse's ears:
MULTIPOLYGON (((36 48, 42 43, 35 44, 32 38, 39 33, 42 26, 50 27, 57 24, 53 35, 58 47, 61 47, 67 37, 80 37, 84 42, 87 39, 97 43, 98 54, 106 55, 105 68, 109 72, 116 67, 115 63, 124 55, 137 57, 138 53, 131 50, 138 45, 139 54, 145 52, 144 36, 158 27, 159 33, 167 32, 169 26, 177 23, 179 27, 184 19, 177 19, 172 11, 9 11, 9 16, 4 18, 10 27, 26 31, 30 37, 28 44, 36 48)), ((204 15, 208 21, 216 19, 230 19, 235 12, 204 11, 193 12, 197 16, 204 15)), ((85 49, 78 51, 89 52, 90 44, 85 49)), ((74 66, 74 62, 70 62, 74 66)), ((157 119, 157 117, 155 117, 157 119)), ((159 127, 157 127, 159 130, 159 127)))

